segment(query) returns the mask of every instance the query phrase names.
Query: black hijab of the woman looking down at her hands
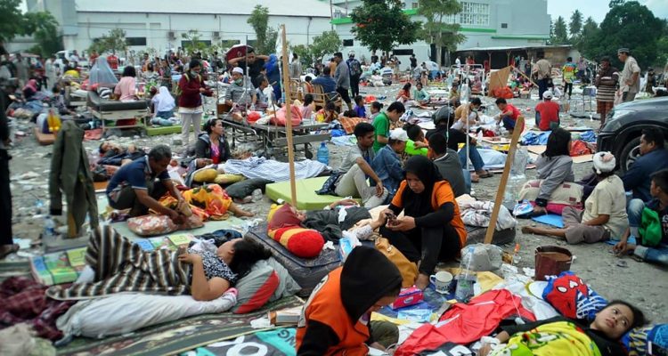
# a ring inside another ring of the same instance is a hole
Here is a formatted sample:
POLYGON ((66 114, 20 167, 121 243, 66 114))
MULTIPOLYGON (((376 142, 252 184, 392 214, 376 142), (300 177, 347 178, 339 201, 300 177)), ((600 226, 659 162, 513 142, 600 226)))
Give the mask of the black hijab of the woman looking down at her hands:
POLYGON ((413 156, 406 161, 403 171, 404 174, 411 173, 417 175, 420 182, 425 186, 425 190, 422 190, 418 194, 406 185, 402 195, 404 214, 412 217, 421 217, 432 213, 434 207, 431 206, 431 196, 434 191, 434 184, 443 181, 443 176, 438 172, 438 168, 436 168, 429 158, 413 156))

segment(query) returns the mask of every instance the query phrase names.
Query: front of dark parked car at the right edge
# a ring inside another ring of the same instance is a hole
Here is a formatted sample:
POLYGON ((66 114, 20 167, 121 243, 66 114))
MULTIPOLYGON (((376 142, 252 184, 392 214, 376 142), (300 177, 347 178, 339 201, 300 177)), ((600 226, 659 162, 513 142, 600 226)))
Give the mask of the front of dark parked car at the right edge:
POLYGON ((610 151, 626 173, 639 157, 642 130, 663 130, 668 137, 668 97, 625 102, 607 114, 597 139, 597 150, 610 151))

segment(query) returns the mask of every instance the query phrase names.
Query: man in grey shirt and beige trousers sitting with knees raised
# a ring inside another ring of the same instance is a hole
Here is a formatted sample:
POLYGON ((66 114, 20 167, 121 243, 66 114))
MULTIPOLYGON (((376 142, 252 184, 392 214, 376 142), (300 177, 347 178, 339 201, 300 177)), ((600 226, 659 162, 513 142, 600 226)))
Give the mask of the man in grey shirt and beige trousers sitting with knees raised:
POLYGON ((334 190, 338 197, 362 198, 363 206, 368 209, 383 204, 388 194, 378 174, 371 168, 371 162, 376 158, 373 150, 374 132, 375 128, 369 123, 354 126, 357 144, 348 151, 338 168, 340 178, 334 190), (375 187, 369 186, 367 176, 376 182, 375 187))

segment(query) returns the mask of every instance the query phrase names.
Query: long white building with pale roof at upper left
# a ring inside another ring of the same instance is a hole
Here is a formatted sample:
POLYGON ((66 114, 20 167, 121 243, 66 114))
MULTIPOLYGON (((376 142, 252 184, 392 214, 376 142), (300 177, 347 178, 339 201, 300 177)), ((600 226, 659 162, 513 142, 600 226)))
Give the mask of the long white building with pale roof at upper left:
POLYGON ((252 44, 256 34, 246 20, 256 4, 269 9, 270 27, 286 25, 289 44, 309 44, 332 28, 330 4, 318 0, 28 0, 29 11, 52 12, 65 49, 79 52, 113 28, 126 31, 129 49, 135 51, 176 49, 191 29, 205 43, 245 43, 248 37, 252 44))

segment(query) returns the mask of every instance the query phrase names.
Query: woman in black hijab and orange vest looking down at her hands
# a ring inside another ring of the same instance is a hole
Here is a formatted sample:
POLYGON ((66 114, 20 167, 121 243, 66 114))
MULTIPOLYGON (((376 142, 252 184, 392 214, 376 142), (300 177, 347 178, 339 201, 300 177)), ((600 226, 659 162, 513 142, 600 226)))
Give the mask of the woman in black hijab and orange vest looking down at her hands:
POLYGON ((466 243, 466 229, 450 183, 429 158, 409 158, 404 172, 395 198, 381 213, 387 215, 387 224, 380 234, 411 262, 421 261, 415 284, 424 289, 436 263, 459 254, 466 243), (402 211, 404 216, 396 218, 402 211))

